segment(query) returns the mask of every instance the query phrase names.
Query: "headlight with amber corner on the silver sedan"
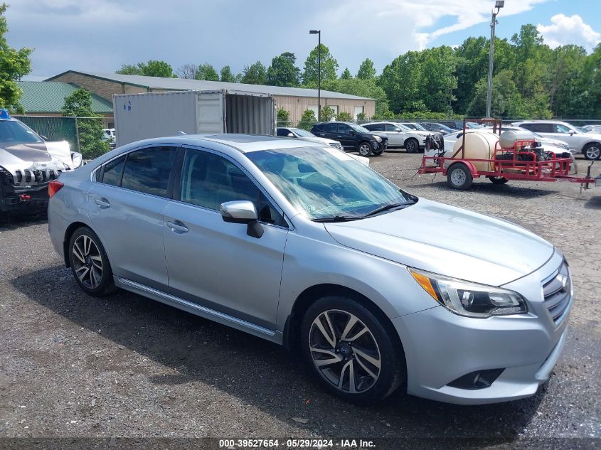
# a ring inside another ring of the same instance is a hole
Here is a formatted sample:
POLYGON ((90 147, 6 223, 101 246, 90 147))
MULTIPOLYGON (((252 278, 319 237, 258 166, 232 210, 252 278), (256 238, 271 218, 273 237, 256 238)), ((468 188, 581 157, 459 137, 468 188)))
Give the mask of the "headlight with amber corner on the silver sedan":
POLYGON ((409 269, 422 288, 459 316, 486 318, 526 313, 526 301, 514 291, 409 269))

